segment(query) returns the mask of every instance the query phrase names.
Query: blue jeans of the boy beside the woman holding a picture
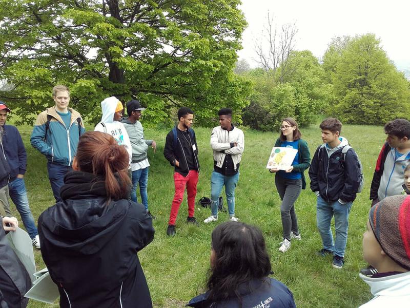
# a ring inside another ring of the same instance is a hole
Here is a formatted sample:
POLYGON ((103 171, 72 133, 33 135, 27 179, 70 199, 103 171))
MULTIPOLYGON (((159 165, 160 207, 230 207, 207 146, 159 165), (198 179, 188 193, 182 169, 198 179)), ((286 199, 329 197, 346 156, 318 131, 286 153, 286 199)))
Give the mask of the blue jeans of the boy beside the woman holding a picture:
POLYGON ((346 204, 341 204, 339 201, 328 203, 320 196, 317 198, 316 221, 322 238, 323 248, 332 251, 334 255, 339 257, 344 257, 351 207, 352 202, 347 202, 346 204), (333 242, 332 230, 330 228, 333 216, 335 217, 335 242, 333 242))

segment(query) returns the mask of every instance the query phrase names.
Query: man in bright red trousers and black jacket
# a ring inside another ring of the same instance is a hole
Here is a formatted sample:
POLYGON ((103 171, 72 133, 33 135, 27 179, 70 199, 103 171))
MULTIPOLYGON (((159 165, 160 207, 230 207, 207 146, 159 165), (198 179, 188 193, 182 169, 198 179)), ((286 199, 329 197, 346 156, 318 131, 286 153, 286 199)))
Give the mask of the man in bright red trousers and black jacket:
POLYGON ((175 167, 175 195, 168 222, 168 236, 174 236, 176 233, 175 221, 185 187, 187 187, 188 195, 187 222, 198 224, 194 217, 196 184, 199 176, 198 145, 196 144, 195 132, 191 128, 194 112, 187 107, 181 107, 178 110, 178 119, 178 125, 167 134, 163 149, 163 155, 171 166, 175 167))

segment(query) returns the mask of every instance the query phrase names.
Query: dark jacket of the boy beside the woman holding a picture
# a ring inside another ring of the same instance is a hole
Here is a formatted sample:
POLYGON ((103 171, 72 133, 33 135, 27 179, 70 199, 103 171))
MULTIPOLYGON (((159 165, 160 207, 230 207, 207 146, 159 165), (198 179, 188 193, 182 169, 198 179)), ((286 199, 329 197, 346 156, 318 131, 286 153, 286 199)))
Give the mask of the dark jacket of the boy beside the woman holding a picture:
POLYGON ((341 199, 353 202, 360 185, 360 166, 353 148, 346 152, 342 160, 343 146, 329 157, 327 150, 320 145, 313 156, 309 177, 312 191, 319 191, 327 202, 341 199), (319 154, 320 152, 320 154, 319 154))

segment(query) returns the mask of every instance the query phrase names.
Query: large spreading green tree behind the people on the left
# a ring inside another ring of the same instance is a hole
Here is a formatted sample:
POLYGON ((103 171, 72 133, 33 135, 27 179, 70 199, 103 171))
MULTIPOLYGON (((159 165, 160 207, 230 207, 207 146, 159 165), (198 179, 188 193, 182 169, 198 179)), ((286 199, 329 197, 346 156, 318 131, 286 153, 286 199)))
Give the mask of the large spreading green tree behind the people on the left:
POLYGON ((110 95, 139 98, 153 122, 188 105, 203 123, 240 109, 250 85, 233 73, 246 26, 239 0, 1 0, 0 91, 23 121, 66 84, 94 121, 110 95), (97 111, 97 112, 96 112, 97 111))

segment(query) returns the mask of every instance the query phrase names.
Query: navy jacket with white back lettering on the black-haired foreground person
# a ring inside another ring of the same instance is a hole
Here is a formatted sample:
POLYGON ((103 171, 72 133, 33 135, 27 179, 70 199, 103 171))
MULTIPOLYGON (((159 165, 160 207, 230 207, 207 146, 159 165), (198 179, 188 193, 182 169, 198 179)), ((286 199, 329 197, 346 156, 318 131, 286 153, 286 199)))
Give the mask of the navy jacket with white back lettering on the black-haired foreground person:
POLYGON ((190 300, 187 306, 195 308, 296 308, 292 292, 283 283, 273 278, 252 280, 249 284, 242 283, 238 288, 242 305, 236 297, 220 302, 207 301, 208 293, 198 295, 190 300))

